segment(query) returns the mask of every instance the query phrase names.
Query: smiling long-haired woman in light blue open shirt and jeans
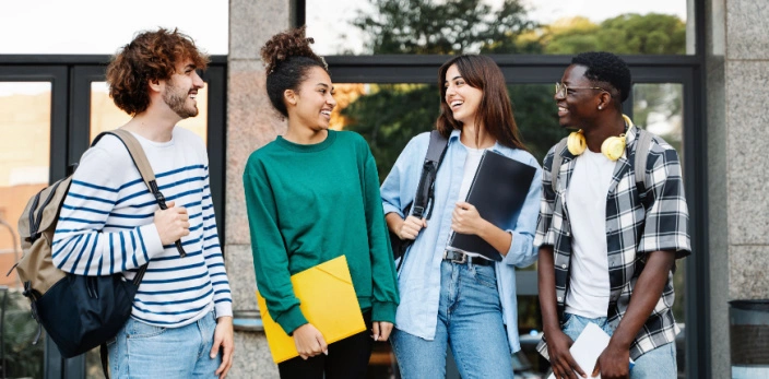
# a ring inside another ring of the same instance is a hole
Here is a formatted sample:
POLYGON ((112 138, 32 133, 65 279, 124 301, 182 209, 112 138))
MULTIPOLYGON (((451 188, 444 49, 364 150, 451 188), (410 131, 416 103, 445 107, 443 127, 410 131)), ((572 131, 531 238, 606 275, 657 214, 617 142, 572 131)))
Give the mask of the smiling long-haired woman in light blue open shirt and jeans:
POLYGON ((436 128, 448 146, 429 222, 403 213, 414 200, 429 133, 409 142, 381 187, 388 227, 414 240, 399 275, 393 350, 404 378, 443 378, 448 345, 462 378, 512 378, 510 354, 520 350, 516 267, 536 260, 541 169, 519 138, 505 78, 490 58, 452 58, 440 68, 438 83, 436 128), (536 167, 523 208, 510 210, 504 225, 485 221, 463 201, 485 150, 536 167), (502 260, 448 250, 453 233, 477 235, 502 260))

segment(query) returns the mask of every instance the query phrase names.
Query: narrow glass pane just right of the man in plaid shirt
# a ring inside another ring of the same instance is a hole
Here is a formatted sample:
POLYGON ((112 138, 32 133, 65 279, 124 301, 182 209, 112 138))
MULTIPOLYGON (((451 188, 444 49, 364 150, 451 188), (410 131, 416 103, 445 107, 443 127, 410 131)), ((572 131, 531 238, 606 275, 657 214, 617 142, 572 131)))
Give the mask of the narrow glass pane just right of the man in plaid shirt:
MULTIPOLYGON (((678 157, 684 157, 684 85, 676 83, 635 84, 632 86, 632 114, 634 121, 646 130, 661 137, 677 152, 678 157)), ((689 203, 691 206, 691 203, 689 203)), ((686 335, 686 264, 677 262, 673 275, 675 288, 675 303, 673 316, 683 332, 676 336, 676 359, 678 372, 685 372, 685 335, 686 335)))

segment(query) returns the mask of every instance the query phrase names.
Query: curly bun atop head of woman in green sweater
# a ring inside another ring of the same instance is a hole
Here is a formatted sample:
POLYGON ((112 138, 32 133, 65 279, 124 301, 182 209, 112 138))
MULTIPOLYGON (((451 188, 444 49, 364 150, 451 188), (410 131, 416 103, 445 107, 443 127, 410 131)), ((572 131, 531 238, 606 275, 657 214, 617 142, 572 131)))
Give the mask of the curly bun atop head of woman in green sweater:
POLYGON ((310 44, 315 44, 315 39, 306 37, 305 32, 306 26, 301 26, 279 33, 264 44, 261 49, 261 55, 268 73, 274 72, 281 63, 292 57, 306 57, 317 61, 323 68, 327 68, 323 58, 312 52, 310 44))

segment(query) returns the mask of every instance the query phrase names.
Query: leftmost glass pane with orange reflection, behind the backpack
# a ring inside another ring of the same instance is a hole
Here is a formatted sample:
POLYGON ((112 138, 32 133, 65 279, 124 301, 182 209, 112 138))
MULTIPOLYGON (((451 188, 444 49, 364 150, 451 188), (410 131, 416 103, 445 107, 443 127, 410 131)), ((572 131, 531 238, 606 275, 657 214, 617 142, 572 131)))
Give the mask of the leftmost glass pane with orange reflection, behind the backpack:
POLYGON ((0 301, 7 297, 3 351, 10 377, 43 377, 43 344, 32 345, 37 323, 21 294, 15 271, 21 257, 16 223, 27 201, 48 186, 50 165, 49 82, 0 82, 0 301), (12 363, 12 364, 11 364, 12 363))

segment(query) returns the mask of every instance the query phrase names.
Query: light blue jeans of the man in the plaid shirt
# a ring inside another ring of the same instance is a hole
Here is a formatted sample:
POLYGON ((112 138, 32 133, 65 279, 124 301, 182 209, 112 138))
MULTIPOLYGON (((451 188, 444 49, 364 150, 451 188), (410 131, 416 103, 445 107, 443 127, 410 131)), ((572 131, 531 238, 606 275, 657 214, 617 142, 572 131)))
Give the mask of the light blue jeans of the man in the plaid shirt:
MULTIPOLYGON (((564 323, 564 333, 572 341, 576 341, 579 333, 582 332, 588 322, 592 322, 608 335, 614 334, 614 329, 606 322, 605 317, 589 319, 585 317, 566 313, 566 322, 564 323)), ((582 367, 585 374, 590 375, 593 367, 582 367)), ((630 379, 647 379, 661 378, 675 379, 677 377, 677 366, 675 362, 675 344, 669 343, 646 353, 635 360, 635 365, 630 369, 630 379)))

